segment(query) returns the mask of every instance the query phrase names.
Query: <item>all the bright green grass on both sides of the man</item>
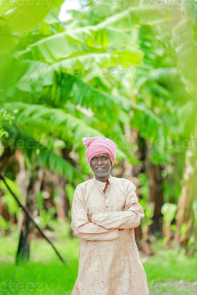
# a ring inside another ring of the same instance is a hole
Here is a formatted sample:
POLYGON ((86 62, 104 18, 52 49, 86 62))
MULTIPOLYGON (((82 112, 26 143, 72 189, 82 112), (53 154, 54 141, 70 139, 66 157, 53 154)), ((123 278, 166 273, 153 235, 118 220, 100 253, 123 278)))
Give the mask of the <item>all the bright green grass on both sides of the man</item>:
MULTIPOLYGON (((66 264, 44 239, 34 239, 30 261, 15 265, 17 229, 14 227, 6 237, 0 236, 0 294, 71 294, 78 272, 79 239, 69 238, 67 222, 54 222, 52 227, 51 240, 66 264)), ((146 257, 143 263, 150 294, 196 294, 197 284, 192 282, 197 281, 197 255, 186 257, 172 249, 165 251, 159 240, 153 247, 157 248, 157 254, 146 257)))

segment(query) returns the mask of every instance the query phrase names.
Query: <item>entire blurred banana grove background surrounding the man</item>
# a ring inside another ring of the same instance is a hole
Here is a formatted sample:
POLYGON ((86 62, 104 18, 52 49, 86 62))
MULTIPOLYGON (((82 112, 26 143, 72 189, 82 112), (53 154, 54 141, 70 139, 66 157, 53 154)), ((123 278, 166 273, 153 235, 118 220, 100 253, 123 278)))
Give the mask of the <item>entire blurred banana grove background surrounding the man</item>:
POLYGON ((197 2, 0 3, 0 294, 71 294, 94 136, 136 185, 150 294, 196 294, 197 2))

